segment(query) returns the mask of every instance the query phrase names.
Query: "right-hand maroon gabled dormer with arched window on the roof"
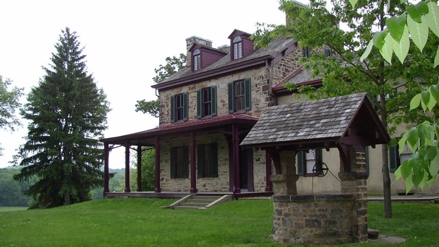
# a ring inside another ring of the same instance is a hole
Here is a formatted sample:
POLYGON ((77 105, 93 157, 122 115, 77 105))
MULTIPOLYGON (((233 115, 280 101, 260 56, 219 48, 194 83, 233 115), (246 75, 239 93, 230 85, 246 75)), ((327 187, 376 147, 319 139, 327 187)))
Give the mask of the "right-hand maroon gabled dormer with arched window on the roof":
POLYGON ((230 39, 230 60, 246 58, 254 51, 254 43, 250 40, 251 34, 233 30, 228 36, 230 39))

